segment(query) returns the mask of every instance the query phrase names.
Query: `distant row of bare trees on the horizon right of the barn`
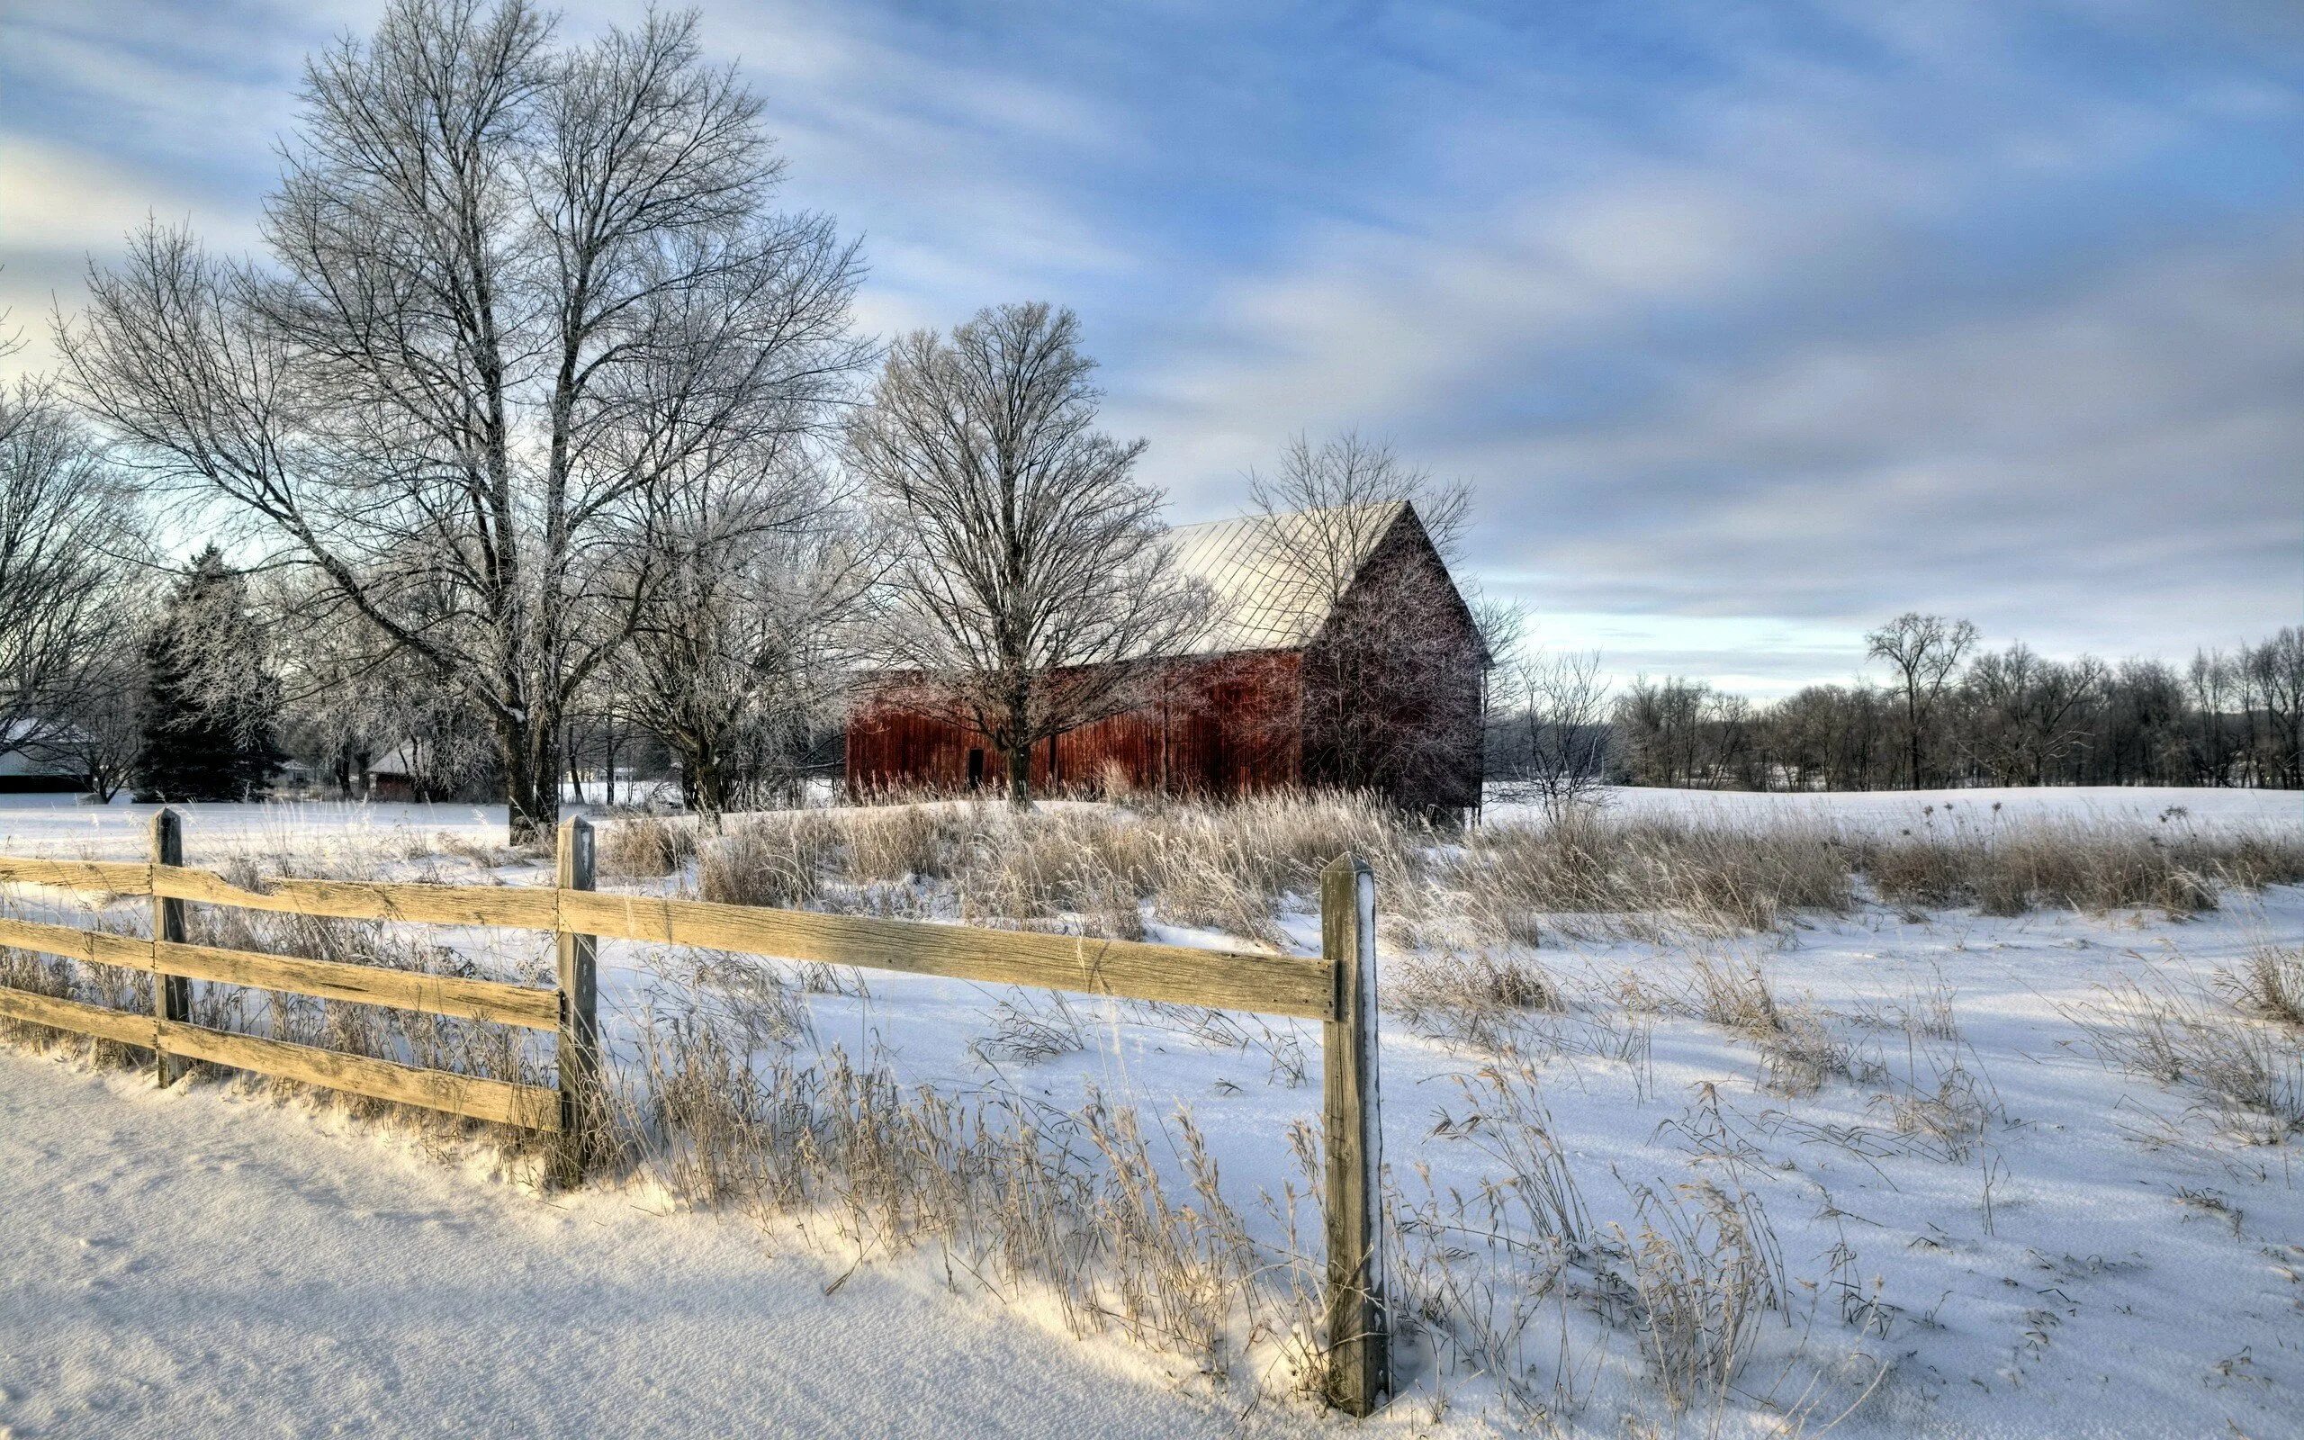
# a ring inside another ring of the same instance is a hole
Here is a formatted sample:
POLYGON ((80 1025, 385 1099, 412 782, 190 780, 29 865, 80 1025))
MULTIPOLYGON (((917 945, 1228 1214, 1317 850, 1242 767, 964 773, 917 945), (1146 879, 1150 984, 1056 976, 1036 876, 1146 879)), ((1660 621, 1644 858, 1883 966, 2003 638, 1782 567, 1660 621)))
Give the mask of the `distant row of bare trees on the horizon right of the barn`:
POLYGON ((1537 797, 1597 783, 1733 790, 1933 786, 2304 788, 2304 629, 2161 659, 2048 659, 1977 627, 1898 615, 1866 634, 1878 680, 1769 703, 1597 657, 1532 657, 1493 687, 1491 774, 1537 797))

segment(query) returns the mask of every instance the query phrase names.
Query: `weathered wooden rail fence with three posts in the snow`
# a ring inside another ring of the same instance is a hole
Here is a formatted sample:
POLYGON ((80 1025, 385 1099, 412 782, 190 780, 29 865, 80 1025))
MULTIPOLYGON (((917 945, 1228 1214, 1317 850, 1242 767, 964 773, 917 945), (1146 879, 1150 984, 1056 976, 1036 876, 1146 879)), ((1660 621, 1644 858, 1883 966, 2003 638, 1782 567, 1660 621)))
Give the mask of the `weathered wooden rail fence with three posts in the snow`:
POLYGON ((182 862, 182 823, 166 809, 152 816, 150 864, 0 857, 0 882, 152 899, 150 938, 0 919, 0 947, 147 970, 150 1016, 0 986, 0 1018, 143 1046, 154 1055, 161 1085, 175 1081, 184 1060, 205 1060, 544 1131, 555 1136, 553 1175, 560 1184, 581 1182, 599 1131, 594 949, 601 938, 1320 1021, 1329 1403, 1352 1415, 1369 1415, 1378 1396, 1389 1389, 1389 1320, 1382 1304, 1375 1189, 1382 1166, 1375 1087, 1375 878, 1355 857, 1336 859, 1320 880, 1320 956, 1187 949, 599 894, 592 887, 592 825, 581 818, 560 825, 558 873, 551 887, 270 880, 258 892, 210 871, 187 869, 182 862), (189 945, 187 903, 334 919, 548 931, 558 945, 558 984, 537 988, 189 945), (558 1037, 558 1085, 516 1085, 194 1025, 194 979, 551 1030, 558 1037))

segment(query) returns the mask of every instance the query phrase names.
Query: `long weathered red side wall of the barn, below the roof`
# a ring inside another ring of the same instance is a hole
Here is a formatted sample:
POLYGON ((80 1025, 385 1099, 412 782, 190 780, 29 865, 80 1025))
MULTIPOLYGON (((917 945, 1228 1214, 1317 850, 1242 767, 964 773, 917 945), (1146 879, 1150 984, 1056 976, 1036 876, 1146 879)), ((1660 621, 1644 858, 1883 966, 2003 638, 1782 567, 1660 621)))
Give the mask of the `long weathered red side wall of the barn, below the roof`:
MULTIPOLYGON (((1161 661, 1147 677, 1145 705, 1034 746, 1032 790, 1104 793, 1113 776, 1173 795, 1295 786, 1299 714, 1295 652, 1161 661)), ((970 751, 979 756, 979 788, 993 793, 1007 783, 1007 760, 982 733, 866 698, 848 721, 848 788, 963 793, 972 779, 970 751)))

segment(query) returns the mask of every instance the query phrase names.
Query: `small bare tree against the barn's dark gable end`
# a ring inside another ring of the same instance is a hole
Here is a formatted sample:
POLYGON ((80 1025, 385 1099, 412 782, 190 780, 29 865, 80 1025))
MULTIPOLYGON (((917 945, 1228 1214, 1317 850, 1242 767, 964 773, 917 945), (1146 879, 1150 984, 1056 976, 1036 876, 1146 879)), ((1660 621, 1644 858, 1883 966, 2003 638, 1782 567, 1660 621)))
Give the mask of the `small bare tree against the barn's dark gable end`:
POLYGON ((1322 617, 1304 652, 1306 776, 1477 797, 1495 608, 1449 574, 1470 488, 1348 431, 1290 440, 1249 498, 1270 518, 1265 564, 1322 617))

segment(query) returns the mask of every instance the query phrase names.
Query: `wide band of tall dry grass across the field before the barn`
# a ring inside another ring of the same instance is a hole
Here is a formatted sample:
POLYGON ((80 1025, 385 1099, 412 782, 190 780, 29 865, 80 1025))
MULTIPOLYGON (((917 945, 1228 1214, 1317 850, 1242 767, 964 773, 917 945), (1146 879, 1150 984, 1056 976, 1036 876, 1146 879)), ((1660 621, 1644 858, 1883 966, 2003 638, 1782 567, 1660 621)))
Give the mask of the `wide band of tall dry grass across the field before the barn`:
POLYGON ((1569 811, 1449 836, 1352 795, 1235 804, 892 802, 737 816, 726 834, 634 816, 608 827, 613 876, 677 873, 707 899, 1140 938, 1147 924, 1283 945, 1339 855, 1378 876, 1399 949, 1534 949, 1574 938, 1684 940, 1848 915, 1857 880, 1903 908, 2018 915, 2214 908, 2226 887, 2304 880, 2304 841, 2163 825, 1928 825, 1843 834, 1820 820, 1735 827, 1569 811))

